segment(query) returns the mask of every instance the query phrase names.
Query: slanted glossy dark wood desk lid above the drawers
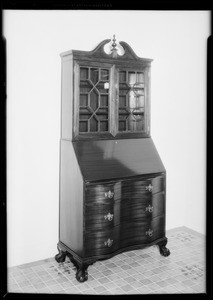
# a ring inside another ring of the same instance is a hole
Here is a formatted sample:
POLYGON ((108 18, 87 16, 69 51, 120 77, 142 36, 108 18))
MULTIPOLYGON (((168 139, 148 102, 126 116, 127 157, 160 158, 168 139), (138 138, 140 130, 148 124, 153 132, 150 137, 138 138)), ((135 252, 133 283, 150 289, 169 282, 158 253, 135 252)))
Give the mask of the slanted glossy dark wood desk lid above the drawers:
POLYGON ((85 181, 165 172, 151 138, 72 143, 85 181))

